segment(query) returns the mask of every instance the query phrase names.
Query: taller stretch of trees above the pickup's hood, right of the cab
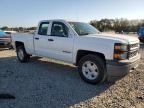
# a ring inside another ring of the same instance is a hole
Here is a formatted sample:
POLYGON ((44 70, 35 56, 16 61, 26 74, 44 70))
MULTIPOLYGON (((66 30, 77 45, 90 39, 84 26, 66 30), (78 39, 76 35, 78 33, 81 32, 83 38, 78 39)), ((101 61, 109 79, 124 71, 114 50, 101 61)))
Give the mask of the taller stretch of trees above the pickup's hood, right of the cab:
POLYGON ((144 26, 144 20, 128 20, 128 19, 101 19, 92 20, 90 24, 96 27, 101 32, 114 31, 114 32, 137 32, 138 29, 144 26))

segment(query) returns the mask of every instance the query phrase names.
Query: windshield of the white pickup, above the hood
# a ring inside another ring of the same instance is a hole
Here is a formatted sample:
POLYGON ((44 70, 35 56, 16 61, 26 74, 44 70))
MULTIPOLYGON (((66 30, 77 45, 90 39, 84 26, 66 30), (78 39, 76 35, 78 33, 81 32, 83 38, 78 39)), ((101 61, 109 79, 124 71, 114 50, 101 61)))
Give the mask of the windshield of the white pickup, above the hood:
POLYGON ((98 31, 96 28, 94 28, 93 26, 91 26, 88 23, 69 22, 69 24, 80 36, 100 33, 100 31, 98 31))

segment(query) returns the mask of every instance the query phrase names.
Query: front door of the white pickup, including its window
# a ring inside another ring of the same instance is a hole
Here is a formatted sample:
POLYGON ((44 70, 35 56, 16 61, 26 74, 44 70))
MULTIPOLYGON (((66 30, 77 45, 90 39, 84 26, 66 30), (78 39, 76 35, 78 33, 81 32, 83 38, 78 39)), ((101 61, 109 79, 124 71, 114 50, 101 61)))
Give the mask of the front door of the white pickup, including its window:
POLYGON ((74 39, 69 36, 68 27, 63 22, 52 22, 51 35, 48 37, 48 49, 52 57, 72 62, 74 39))

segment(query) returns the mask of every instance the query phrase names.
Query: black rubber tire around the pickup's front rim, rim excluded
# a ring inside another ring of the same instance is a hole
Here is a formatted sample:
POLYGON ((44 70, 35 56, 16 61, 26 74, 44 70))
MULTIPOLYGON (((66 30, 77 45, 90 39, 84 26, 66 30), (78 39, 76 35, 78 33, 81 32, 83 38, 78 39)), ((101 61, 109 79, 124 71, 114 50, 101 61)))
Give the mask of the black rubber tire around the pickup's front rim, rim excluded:
POLYGON ((100 57, 98 57, 96 55, 87 55, 87 56, 83 57, 79 62, 78 71, 79 71, 81 78, 85 82, 91 83, 91 84, 98 84, 98 83, 104 81, 105 76, 106 76, 105 63, 100 57), (98 74, 98 77, 94 80, 87 79, 82 72, 82 66, 86 61, 91 61, 91 62, 95 63, 98 67, 99 74, 98 74))

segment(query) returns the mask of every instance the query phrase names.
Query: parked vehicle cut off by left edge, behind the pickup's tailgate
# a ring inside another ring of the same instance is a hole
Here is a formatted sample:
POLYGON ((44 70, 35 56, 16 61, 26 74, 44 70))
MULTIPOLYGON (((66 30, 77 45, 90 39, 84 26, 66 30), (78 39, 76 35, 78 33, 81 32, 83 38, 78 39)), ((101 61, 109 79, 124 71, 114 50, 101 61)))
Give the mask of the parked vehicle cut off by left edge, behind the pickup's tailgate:
POLYGON ((0 47, 9 47, 11 36, 0 30, 0 47))

